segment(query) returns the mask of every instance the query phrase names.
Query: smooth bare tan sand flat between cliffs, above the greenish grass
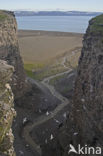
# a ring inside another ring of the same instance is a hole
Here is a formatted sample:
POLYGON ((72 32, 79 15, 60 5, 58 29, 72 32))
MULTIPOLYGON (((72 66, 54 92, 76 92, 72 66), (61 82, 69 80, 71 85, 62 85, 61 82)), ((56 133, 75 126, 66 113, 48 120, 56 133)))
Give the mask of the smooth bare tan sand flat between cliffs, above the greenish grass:
POLYGON ((21 56, 25 62, 45 62, 58 55, 82 47, 83 34, 20 30, 21 56))

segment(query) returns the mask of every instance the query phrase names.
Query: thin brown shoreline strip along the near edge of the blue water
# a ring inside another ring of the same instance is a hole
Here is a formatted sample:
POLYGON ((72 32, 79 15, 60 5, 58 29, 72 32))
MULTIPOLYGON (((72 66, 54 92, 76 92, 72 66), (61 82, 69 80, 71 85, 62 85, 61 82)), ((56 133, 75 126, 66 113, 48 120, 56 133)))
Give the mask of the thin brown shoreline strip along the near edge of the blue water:
POLYGON ((76 32, 61 32, 61 31, 45 31, 45 30, 18 30, 18 36, 21 37, 30 37, 30 36, 57 36, 57 37, 70 37, 78 36, 81 37, 83 33, 76 32))

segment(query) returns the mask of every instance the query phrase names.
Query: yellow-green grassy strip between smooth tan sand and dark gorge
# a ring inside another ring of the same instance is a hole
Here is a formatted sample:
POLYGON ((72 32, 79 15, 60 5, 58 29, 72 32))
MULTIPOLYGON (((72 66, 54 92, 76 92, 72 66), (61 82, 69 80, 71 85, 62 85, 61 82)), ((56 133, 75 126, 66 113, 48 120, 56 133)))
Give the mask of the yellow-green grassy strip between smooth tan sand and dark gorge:
MULTIPOLYGON (((79 48, 80 49, 80 48, 79 48)), ((66 54, 66 62, 65 65, 68 68, 65 68, 65 66, 62 64, 63 57, 56 58, 52 62, 35 62, 35 63, 27 63, 24 62, 24 69, 26 71, 26 74, 36 80, 43 80, 45 77, 49 77, 52 75, 56 75, 58 73, 62 73, 67 71, 69 68, 76 68, 78 65, 78 58, 80 56, 80 51, 76 52, 74 55, 72 55, 72 52, 70 54, 66 54)), ((58 79, 58 78, 57 78, 58 79)), ((54 81, 54 80, 52 80, 54 81)), ((52 82, 51 82, 52 83, 52 82)))

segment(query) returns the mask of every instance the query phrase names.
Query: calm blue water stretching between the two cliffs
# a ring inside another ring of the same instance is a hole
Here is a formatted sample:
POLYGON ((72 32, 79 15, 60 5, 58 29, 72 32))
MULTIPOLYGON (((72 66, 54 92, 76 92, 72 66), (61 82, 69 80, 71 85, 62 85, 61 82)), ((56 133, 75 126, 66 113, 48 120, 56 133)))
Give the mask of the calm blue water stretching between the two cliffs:
POLYGON ((18 29, 85 33, 93 16, 23 16, 16 17, 18 29))

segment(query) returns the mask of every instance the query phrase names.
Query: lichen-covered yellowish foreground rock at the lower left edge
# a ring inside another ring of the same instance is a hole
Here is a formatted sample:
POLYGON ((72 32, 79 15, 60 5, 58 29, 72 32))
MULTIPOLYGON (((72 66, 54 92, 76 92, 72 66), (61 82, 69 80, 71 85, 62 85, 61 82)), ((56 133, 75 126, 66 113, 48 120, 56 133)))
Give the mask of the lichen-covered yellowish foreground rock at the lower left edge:
POLYGON ((14 96, 10 82, 13 67, 0 60, 0 156, 15 156, 11 130, 14 110, 14 96))

